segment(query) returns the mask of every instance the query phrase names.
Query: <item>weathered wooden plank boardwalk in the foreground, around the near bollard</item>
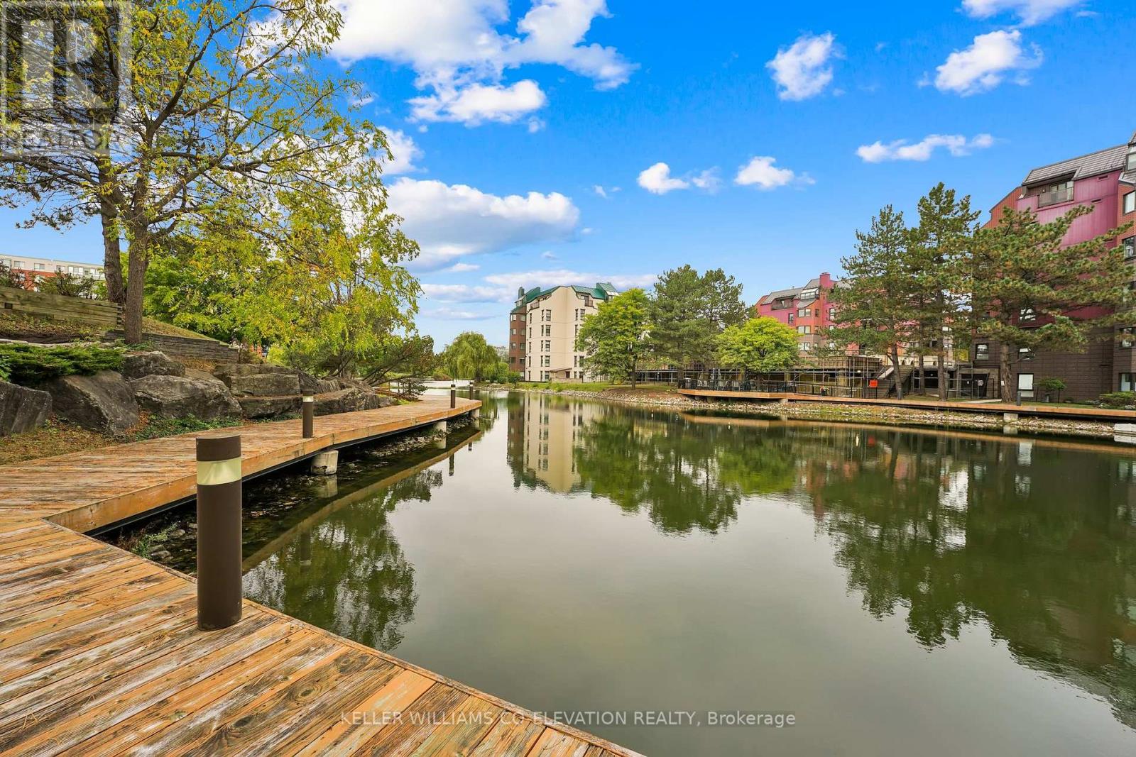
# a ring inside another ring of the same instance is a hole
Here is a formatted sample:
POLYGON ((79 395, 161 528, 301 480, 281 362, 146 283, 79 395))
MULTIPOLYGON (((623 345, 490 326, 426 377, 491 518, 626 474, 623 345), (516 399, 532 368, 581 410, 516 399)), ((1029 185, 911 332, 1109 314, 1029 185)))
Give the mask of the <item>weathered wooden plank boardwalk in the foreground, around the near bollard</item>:
MULTIPOLYGON (((245 476, 470 412, 423 402, 244 427, 245 476)), ((194 435, 0 466, 0 754, 632 755, 77 533, 192 495, 194 435)))

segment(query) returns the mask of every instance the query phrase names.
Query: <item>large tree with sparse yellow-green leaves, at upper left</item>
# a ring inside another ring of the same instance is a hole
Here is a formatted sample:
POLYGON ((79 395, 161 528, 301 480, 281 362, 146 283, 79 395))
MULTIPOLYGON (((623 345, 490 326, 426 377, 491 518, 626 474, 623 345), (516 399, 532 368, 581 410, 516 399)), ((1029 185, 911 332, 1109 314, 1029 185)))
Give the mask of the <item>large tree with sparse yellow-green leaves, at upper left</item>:
POLYGON ((126 279, 126 338, 139 342, 154 250, 224 216, 267 239, 261 249, 303 260, 311 247, 294 244, 289 218, 296 204, 281 194, 323 213, 368 203, 379 212, 378 170, 356 168, 390 153, 381 132, 345 112, 358 84, 320 73, 342 25, 332 0, 152 0, 133 9, 130 96, 106 142, 87 154, 9 154, 0 186, 47 199, 33 220, 98 208, 108 234, 120 230, 125 276, 108 243, 107 278, 111 289, 126 279))

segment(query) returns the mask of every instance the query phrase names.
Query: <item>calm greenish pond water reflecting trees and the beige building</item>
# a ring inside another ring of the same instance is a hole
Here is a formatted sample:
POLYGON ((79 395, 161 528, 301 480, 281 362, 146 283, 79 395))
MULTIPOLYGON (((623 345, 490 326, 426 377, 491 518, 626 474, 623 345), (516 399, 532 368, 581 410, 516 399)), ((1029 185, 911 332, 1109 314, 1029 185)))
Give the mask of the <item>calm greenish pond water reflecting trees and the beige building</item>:
POLYGON ((546 713, 797 722, 577 721, 650 755, 1136 754, 1130 451, 483 398, 251 485, 245 595, 546 713))

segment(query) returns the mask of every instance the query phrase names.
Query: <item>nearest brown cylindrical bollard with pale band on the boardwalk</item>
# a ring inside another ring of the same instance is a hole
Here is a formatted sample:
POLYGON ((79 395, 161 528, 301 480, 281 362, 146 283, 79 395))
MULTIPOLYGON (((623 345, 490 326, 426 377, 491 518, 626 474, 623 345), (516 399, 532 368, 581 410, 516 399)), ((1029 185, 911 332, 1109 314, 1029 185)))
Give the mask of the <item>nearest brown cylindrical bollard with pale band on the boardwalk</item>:
POLYGON ((241 435, 198 437, 198 628, 241 620, 241 435))

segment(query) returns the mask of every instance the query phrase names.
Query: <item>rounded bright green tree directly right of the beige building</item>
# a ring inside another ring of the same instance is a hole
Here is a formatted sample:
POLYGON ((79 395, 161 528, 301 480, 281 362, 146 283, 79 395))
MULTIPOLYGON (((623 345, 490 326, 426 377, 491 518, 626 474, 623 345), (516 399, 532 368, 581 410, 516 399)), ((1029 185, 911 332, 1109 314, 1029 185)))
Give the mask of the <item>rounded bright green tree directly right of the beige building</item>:
POLYGON ((649 351, 651 303, 643 289, 628 289, 601 303, 576 336, 576 350, 586 353, 584 367, 594 376, 612 381, 630 379, 649 351))

